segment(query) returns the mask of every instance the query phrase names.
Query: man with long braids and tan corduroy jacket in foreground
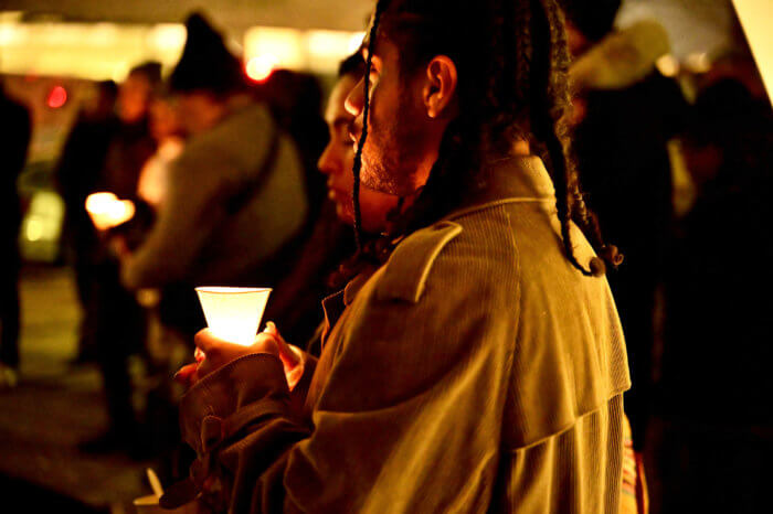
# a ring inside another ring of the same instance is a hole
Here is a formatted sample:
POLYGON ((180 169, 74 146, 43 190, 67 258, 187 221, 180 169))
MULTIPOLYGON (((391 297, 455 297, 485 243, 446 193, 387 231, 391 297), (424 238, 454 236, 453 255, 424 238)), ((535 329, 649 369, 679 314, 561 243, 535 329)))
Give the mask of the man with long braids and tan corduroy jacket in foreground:
POLYGON ((380 0, 366 56, 356 218, 360 172, 400 214, 324 301, 318 362, 273 325, 248 347, 197 336, 179 377, 198 459, 162 505, 618 512, 618 258, 568 158, 555 0, 380 0))

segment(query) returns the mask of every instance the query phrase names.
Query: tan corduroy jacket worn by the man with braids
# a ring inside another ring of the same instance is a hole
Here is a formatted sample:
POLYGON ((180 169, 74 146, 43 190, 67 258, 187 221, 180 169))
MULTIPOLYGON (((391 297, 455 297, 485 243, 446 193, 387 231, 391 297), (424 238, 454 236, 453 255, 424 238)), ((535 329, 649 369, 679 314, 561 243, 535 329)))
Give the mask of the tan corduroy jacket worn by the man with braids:
POLYGON ((559 234, 539 159, 495 165, 325 300, 310 384, 289 394, 258 354, 191 388, 193 482, 218 476, 205 497, 237 513, 616 513, 625 344, 606 280, 559 234))

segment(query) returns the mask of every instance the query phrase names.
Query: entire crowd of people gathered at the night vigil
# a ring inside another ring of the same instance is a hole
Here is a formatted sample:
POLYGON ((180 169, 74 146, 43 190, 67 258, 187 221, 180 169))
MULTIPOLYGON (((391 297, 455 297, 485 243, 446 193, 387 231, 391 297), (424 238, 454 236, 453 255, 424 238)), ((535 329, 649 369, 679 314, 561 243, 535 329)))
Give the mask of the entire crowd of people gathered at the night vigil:
MULTIPOLYGON (((656 66, 663 30, 615 30, 618 1, 506 3, 378 1, 324 117, 314 77, 251 84, 201 14, 168 77, 96 85, 56 165, 76 361, 109 414, 83 451, 162 454, 181 480, 162 504, 215 512, 645 512, 660 445, 661 512, 754 511, 773 449, 759 75, 706 74, 688 101, 656 66), (137 214, 96 231, 97 191, 137 214), (202 330, 200 285, 274 289, 252 346, 202 330), (135 354, 162 377, 145 413, 135 354)), ((23 109, 0 111, 25 149, 23 109)), ((3 153, 15 178, 23 151, 3 153)))

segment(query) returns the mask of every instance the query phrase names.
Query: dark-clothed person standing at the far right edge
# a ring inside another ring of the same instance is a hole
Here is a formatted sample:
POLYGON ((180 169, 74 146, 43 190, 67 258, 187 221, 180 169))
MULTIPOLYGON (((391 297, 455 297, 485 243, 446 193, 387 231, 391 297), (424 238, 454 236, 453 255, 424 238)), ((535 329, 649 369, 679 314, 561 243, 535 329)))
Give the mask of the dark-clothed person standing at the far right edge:
POLYGON ((701 90, 680 135, 696 185, 668 260, 657 453, 666 513, 756 513, 773 456, 773 114, 734 78, 701 90))

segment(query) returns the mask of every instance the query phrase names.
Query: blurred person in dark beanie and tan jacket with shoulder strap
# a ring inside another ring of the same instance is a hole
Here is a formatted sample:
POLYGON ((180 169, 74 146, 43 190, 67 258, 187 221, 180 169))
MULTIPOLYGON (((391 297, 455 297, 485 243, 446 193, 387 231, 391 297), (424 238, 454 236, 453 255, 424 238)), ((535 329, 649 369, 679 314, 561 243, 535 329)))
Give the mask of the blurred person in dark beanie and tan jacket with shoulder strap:
POLYGON ((203 326, 193 286, 276 285, 292 268, 307 218, 292 139, 250 95, 240 60, 201 14, 168 81, 187 138, 144 243, 124 251, 126 287, 162 288, 161 317, 203 326))

